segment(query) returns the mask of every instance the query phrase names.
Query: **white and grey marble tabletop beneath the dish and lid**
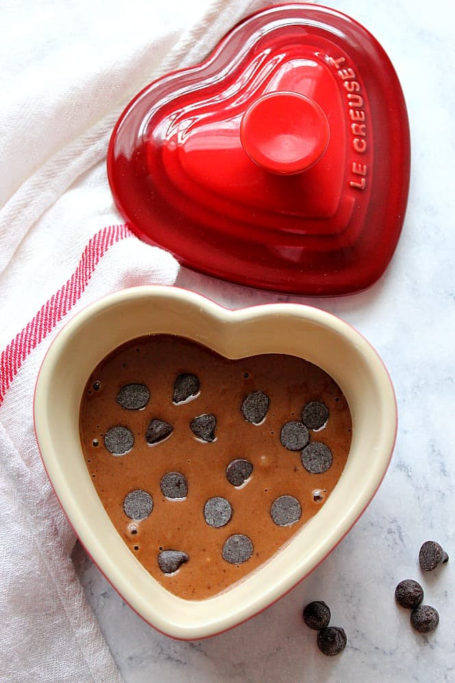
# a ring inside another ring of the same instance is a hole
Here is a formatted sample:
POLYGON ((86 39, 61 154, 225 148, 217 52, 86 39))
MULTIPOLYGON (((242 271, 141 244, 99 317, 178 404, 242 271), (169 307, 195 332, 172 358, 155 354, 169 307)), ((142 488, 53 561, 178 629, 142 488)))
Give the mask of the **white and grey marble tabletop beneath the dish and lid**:
MULTIPOLYGON (((295 300, 353 324, 384 359, 397 394, 399 430, 389 472, 347 538, 290 594, 236 629, 180 643, 143 623, 80 549, 75 562, 127 683, 455 681, 455 206, 452 3, 334 0, 380 41, 402 82, 412 136, 410 198, 402 237, 380 283, 340 299, 276 296, 182 270, 177 284, 228 307, 295 300), (424 540, 453 559, 423 575, 424 540), (413 577, 441 621, 414 632, 395 585, 413 577), (303 606, 323 599, 347 648, 325 658, 303 606)), ((228 27, 226 27, 228 28, 228 27)))

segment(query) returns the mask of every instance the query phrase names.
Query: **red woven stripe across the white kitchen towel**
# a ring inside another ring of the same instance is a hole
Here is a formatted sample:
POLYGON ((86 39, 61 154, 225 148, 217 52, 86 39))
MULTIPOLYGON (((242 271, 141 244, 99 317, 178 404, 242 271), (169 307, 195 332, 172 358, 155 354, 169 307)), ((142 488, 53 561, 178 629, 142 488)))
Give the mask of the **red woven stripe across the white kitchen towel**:
POLYGON ((133 232, 127 225, 102 228, 90 239, 71 278, 54 293, 12 339, 0 356, 0 405, 29 353, 45 339, 80 298, 99 260, 112 245, 133 232))

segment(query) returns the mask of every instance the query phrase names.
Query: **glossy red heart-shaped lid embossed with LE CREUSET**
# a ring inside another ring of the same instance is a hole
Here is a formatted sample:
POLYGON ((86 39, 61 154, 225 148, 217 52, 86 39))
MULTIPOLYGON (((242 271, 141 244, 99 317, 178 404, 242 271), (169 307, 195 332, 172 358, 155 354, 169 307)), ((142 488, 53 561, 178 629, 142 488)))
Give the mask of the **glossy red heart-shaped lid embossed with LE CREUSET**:
POLYGON ((108 152, 116 205, 146 241, 225 280, 325 296, 386 269, 409 167, 384 50, 356 21, 306 4, 250 16, 205 62, 147 86, 108 152))

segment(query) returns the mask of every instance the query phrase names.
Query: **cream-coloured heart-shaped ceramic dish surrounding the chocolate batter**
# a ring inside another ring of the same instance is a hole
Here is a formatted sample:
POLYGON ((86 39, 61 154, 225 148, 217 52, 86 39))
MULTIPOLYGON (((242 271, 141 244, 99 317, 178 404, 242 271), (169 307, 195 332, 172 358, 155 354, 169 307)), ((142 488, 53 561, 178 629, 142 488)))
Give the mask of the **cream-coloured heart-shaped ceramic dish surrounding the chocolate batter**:
POLYGON ((34 418, 49 479, 88 554, 145 621, 183 640, 238 625, 306 577, 371 501, 397 427, 384 364, 362 335, 334 315, 283 303, 231 311, 190 291, 154 285, 107 296, 64 327, 40 369, 34 418), (321 510, 269 562, 202 601, 175 597, 134 557, 101 505, 79 440, 79 403, 97 363, 124 342, 157 333, 188 337, 232 359, 270 352, 302 357, 332 376, 352 414, 347 464, 321 510))

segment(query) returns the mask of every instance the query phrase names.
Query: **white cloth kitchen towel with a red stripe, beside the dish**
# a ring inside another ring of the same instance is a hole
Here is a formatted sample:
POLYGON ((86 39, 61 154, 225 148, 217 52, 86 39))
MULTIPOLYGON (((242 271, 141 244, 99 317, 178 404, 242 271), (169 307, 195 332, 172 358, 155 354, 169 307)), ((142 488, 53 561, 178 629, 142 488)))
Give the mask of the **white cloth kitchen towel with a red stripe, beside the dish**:
MULTIPOLYGON (((260 3, 17 0, 0 8, 0 680, 121 680, 71 564, 42 467, 36 376, 69 315, 121 287, 173 283, 173 256, 116 212, 105 159, 127 101, 199 62, 260 3)), ((62 444, 64 448, 64 444, 62 444)))

